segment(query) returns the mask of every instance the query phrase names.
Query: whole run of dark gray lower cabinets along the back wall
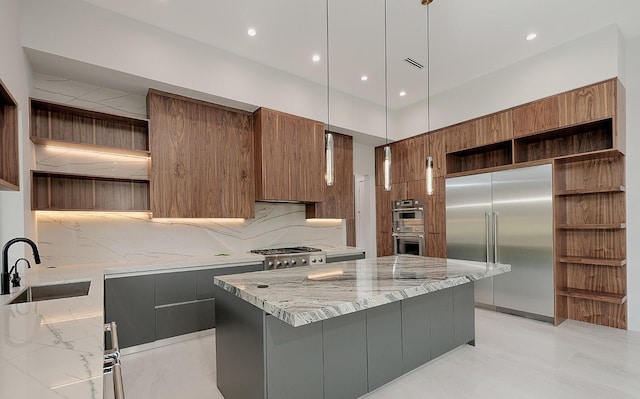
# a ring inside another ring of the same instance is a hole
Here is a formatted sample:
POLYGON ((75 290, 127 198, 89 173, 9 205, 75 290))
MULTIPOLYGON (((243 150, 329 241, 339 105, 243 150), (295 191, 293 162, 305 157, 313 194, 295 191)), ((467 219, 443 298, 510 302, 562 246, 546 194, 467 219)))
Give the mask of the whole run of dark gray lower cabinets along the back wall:
POLYGON ((214 328, 214 276, 260 271, 262 263, 105 279, 105 322, 121 348, 214 328))

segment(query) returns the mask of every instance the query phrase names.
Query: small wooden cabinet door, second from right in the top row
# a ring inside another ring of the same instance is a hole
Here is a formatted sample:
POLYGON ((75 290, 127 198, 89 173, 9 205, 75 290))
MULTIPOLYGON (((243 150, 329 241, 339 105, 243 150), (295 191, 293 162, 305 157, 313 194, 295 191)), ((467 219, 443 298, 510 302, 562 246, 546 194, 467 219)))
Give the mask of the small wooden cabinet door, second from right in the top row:
POLYGON ((559 127, 559 97, 548 97, 514 108, 513 136, 522 137, 559 127))

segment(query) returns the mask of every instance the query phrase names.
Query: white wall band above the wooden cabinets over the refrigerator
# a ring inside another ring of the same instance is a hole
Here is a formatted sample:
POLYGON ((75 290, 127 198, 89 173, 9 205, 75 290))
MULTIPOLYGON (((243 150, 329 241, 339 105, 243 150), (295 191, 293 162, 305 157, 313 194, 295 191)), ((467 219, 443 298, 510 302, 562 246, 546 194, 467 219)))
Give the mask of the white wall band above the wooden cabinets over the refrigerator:
MULTIPOLYGON (((431 130, 618 76, 623 39, 609 26, 431 97, 431 130)), ((426 104, 396 114, 394 139, 427 131, 426 104)))

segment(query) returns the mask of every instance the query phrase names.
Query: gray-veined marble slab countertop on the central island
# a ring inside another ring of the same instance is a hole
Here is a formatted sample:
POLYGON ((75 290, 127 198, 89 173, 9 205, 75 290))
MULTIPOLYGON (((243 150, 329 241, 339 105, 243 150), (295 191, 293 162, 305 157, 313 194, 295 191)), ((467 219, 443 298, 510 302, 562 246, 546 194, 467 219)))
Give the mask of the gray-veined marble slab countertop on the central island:
POLYGON ((510 270, 504 264, 399 255, 218 276, 214 282, 298 327, 510 270))

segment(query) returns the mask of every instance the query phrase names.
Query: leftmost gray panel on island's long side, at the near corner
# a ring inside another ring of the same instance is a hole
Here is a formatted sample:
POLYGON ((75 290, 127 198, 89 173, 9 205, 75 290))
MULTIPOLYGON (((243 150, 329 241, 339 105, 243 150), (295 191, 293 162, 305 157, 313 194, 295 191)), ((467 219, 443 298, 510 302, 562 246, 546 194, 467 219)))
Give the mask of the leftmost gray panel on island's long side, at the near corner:
POLYGON ((322 323, 300 327, 267 315, 267 397, 323 399, 322 323))

